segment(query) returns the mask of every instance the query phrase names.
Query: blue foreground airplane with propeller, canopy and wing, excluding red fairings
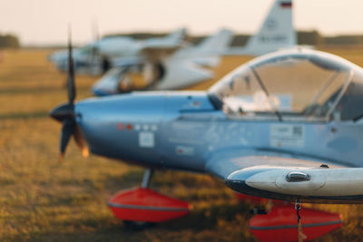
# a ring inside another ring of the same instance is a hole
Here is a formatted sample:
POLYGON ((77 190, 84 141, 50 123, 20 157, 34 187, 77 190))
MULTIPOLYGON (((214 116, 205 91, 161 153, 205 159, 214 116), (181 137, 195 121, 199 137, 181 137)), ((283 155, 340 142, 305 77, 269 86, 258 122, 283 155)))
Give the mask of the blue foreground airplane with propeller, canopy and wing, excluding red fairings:
MULTIPOLYGON (((152 170, 176 169, 297 208, 363 201, 363 69, 345 59, 285 50, 242 64, 207 92, 131 92, 74 102, 71 44, 69 58, 68 102, 51 112, 63 124, 62 160, 74 136, 83 155, 89 149, 147 168, 144 189, 152 170), (281 105, 287 93, 290 103, 281 105)), ((134 204, 111 206, 142 221, 130 211, 134 204)))

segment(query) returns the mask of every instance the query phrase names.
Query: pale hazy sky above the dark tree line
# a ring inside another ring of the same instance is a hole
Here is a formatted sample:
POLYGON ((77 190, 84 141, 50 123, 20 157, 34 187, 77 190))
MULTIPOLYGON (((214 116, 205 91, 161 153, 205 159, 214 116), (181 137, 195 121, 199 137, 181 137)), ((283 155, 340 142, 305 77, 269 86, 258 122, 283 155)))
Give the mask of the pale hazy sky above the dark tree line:
MULTIPOLYGON (((0 0, 0 34, 16 34, 22 44, 64 44, 72 25, 75 44, 99 33, 171 32, 211 34, 227 27, 253 34, 273 0, 0 0)), ((293 0, 297 30, 324 35, 363 34, 362 0, 293 0)))

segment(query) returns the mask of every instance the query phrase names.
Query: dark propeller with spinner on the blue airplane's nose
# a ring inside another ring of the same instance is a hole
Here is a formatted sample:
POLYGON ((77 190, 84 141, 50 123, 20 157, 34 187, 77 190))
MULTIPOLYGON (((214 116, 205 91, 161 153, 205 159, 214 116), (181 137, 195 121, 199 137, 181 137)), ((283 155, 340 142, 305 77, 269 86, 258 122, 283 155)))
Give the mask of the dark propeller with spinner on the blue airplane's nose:
POLYGON ((71 28, 68 28, 68 78, 67 78, 67 92, 68 102, 63 103, 54 108, 50 112, 50 116, 56 120, 62 122, 61 140, 60 140, 60 157, 59 160, 64 160, 65 149, 74 136, 74 140, 78 147, 82 150, 84 157, 88 156, 88 147, 83 139, 82 133, 75 122, 74 115, 74 99, 76 97, 75 85, 74 85, 74 62, 72 56, 72 34, 71 28))

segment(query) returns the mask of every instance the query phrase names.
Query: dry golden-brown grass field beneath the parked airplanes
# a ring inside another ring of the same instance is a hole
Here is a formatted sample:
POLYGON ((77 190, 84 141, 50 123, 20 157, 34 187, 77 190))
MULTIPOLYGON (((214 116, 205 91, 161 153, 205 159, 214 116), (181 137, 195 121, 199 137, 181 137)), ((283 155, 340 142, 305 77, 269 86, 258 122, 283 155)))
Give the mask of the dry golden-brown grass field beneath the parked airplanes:
MULTIPOLYGON (((322 48, 363 65, 363 47, 322 48)), ((58 163, 61 125, 48 117, 66 100, 65 76, 46 61, 47 50, 5 51, 0 63, 0 241, 255 241, 248 231, 251 205, 234 198, 218 179, 157 171, 152 189, 191 202, 191 214, 130 231, 106 202, 117 190, 140 184, 142 168, 90 156, 72 141, 58 163)), ((250 57, 225 57, 216 79, 250 57)), ((97 77, 76 78, 77 98, 90 96, 97 77)), ((205 90, 215 80, 195 85, 205 90)), ((360 241, 362 206, 314 205, 344 218, 319 241, 360 241)))

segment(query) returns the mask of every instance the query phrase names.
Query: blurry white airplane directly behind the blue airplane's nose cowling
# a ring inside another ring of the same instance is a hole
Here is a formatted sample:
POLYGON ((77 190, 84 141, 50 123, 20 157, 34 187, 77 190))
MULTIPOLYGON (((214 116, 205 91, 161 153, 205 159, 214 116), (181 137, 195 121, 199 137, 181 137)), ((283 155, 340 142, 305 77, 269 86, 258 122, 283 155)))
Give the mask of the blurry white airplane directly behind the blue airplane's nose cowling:
POLYGON ((96 95, 110 95, 132 90, 179 89, 213 77, 203 67, 214 67, 220 62, 221 54, 231 43, 230 30, 221 29, 204 39, 201 44, 188 45, 179 49, 147 48, 142 57, 114 61, 113 69, 93 85, 96 95), (142 87, 132 87, 138 79, 142 87))

